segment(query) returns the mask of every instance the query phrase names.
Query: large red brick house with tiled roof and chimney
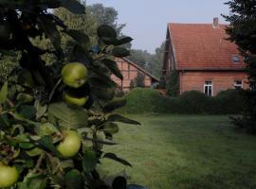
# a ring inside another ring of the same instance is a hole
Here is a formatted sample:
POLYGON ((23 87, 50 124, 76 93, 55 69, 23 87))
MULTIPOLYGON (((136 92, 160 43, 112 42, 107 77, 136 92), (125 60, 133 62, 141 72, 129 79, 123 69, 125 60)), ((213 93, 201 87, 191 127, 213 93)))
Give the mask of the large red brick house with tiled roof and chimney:
POLYGON ((237 45, 226 40, 226 26, 218 18, 213 24, 168 24, 163 76, 176 72, 179 94, 196 90, 211 96, 248 87, 246 64, 237 45))

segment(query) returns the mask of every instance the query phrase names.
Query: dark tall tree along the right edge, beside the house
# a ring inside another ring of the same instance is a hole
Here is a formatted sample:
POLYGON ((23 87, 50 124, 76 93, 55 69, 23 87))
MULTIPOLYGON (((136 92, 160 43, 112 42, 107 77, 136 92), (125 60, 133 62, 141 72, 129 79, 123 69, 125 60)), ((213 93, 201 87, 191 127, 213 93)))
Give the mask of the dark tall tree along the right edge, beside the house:
POLYGON ((229 21, 227 28, 229 41, 239 46, 247 63, 249 89, 247 110, 242 118, 233 118, 236 126, 256 133, 256 0, 231 0, 228 3, 230 14, 224 16, 229 21))

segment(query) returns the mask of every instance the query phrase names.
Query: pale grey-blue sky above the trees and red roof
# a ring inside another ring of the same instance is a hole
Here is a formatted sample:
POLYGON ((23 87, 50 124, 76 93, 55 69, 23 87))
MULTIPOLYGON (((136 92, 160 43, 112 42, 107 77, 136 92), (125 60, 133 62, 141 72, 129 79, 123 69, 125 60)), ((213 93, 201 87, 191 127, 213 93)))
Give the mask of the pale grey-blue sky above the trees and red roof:
POLYGON ((167 23, 212 23, 221 13, 229 14, 228 0, 87 0, 119 12, 119 24, 126 24, 125 35, 134 38, 133 48, 155 52, 164 40, 167 23))

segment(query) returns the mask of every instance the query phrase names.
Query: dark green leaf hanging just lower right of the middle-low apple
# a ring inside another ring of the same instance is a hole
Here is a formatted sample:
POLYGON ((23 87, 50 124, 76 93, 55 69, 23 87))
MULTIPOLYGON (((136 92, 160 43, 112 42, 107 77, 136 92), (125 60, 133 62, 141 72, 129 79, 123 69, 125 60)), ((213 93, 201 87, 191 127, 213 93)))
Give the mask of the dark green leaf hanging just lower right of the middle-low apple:
POLYGON ((96 168, 98 163, 98 157, 94 151, 89 148, 84 148, 83 158, 82 158, 82 168, 83 171, 88 173, 96 168))

